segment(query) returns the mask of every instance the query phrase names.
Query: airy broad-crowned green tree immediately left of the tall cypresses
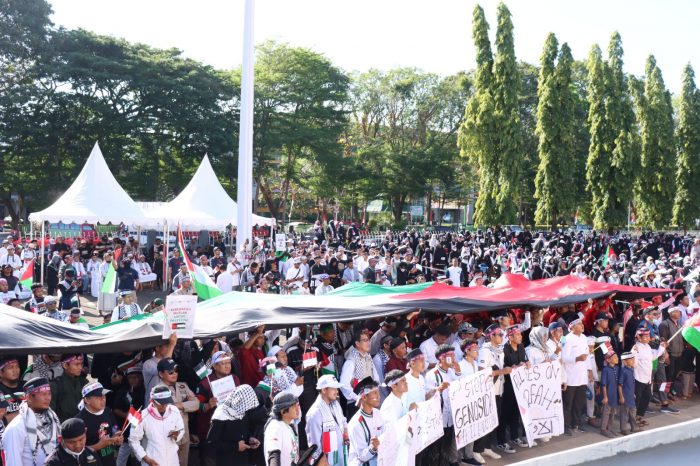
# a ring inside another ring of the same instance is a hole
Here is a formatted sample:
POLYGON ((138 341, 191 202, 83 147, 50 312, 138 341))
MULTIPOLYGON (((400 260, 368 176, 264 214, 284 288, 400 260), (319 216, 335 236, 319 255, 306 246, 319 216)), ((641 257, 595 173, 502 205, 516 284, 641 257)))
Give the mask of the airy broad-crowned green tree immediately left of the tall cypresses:
POLYGON ((458 154, 457 130, 469 87, 465 75, 440 78, 412 68, 371 70, 355 79, 354 130, 347 142, 371 179, 363 197, 386 199, 394 222, 401 220, 409 198, 444 185, 444 171, 458 154))

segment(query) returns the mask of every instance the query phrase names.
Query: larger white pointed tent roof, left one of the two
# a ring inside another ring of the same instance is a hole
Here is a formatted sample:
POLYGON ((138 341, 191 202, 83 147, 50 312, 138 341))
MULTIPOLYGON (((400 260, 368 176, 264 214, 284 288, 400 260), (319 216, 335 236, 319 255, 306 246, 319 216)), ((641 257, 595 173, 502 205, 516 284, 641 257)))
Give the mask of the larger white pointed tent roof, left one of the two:
POLYGON ((50 207, 29 215, 33 222, 140 223, 141 209, 112 175, 100 151, 90 152, 73 184, 50 207))

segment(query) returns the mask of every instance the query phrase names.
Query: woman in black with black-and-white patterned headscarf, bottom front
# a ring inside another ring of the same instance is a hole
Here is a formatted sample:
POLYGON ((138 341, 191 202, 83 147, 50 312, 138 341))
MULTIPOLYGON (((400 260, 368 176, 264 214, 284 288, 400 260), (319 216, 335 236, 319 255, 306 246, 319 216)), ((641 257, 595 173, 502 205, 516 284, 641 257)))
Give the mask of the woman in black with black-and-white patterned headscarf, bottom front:
POLYGON ((260 440, 253 437, 253 432, 256 424, 264 420, 265 409, 253 388, 236 387, 214 411, 207 434, 207 456, 213 457, 217 466, 253 464, 249 450, 254 452, 260 447, 260 440))

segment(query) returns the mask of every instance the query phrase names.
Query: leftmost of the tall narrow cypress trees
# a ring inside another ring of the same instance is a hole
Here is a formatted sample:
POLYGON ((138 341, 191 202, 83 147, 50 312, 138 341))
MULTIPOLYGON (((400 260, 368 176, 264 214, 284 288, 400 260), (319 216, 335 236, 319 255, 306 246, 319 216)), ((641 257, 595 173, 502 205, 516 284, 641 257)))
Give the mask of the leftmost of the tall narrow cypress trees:
POLYGON ((479 196, 474 213, 477 225, 494 225, 500 220, 495 208, 499 167, 494 148, 493 55, 488 31, 484 10, 477 5, 472 20, 472 38, 476 47, 474 94, 467 103, 458 141, 461 154, 469 157, 477 167, 479 196))

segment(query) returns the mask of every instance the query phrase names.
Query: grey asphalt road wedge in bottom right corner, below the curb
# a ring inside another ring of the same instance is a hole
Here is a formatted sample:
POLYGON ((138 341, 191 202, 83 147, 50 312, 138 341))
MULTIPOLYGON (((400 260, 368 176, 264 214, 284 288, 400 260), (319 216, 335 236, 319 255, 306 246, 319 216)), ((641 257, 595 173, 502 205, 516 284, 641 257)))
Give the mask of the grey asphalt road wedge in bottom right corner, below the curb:
POLYGON ((689 465, 700 458, 700 441, 698 439, 671 443, 636 453, 623 453, 613 458, 586 463, 588 466, 659 466, 689 465))

